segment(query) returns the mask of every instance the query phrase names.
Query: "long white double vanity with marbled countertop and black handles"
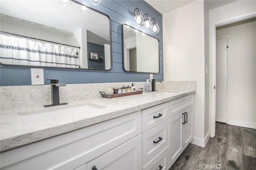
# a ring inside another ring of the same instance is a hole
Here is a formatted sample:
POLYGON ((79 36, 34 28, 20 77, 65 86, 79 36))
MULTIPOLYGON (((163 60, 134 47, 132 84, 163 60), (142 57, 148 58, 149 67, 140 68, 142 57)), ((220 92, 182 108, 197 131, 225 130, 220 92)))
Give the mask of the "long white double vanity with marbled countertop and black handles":
POLYGON ((162 89, 2 111, 1 169, 169 169, 193 138, 194 93, 162 89))

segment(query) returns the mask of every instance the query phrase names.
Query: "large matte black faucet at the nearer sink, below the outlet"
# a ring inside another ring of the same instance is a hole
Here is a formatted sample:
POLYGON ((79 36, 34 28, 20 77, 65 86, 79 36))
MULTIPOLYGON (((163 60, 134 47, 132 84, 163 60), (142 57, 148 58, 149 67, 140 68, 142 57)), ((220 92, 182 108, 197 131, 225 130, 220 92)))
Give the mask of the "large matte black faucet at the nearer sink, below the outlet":
MULTIPOLYGON (((48 79, 48 80, 50 80, 50 79, 48 79)), ((44 105, 44 107, 68 104, 68 103, 60 103, 59 87, 66 86, 66 84, 58 84, 59 80, 50 80, 50 81, 51 81, 51 92, 52 92, 52 104, 44 105)))

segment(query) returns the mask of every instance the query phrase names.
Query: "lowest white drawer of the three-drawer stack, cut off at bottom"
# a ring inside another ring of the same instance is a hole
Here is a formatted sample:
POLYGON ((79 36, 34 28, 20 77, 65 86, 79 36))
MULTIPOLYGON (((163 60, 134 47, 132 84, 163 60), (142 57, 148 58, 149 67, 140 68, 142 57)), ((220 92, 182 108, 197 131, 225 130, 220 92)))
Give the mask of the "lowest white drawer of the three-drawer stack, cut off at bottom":
POLYGON ((168 150, 169 146, 167 146, 164 150, 162 150, 162 152, 148 162, 148 164, 143 167, 143 170, 168 170, 168 150))

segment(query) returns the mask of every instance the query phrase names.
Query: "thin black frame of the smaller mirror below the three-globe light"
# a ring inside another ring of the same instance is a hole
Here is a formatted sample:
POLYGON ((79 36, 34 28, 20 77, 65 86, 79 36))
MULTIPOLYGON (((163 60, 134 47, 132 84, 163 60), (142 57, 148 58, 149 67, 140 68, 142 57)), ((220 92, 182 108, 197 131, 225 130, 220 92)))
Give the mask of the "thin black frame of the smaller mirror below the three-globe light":
MULTIPOLYGON (((130 25, 126 24, 126 23, 122 24, 122 66, 123 66, 123 70, 126 71, 124 69, 124 25, 127 25, 127 26, 130 26, 130 25)), ((137 28, 134 28, 132 26, 130 26, 130 27, 133 28, 133 29, 138 30, 137 28)), ((142 32, 141 30, 138 30, 138 31, 142 32)), ((145 32, 143 32, 143 33, 145 33, 145 32)), ((149 35, 147 33, 145 33, 145 34, 150 36, 150 37, 152 37, 152 38, 155 38, 158 41, 158 72, 157 73, 154 73, 154 72, 141 72, 141 71, 126 71, 126 72, 131 72, 131 73, 147 73, 147 74, 150 74, 150 73, 158 74, 158 73, 160 73, 160 41, 159 41, 158 38, 156 38, 154 36, 151 36, 151 35, 149 35)))

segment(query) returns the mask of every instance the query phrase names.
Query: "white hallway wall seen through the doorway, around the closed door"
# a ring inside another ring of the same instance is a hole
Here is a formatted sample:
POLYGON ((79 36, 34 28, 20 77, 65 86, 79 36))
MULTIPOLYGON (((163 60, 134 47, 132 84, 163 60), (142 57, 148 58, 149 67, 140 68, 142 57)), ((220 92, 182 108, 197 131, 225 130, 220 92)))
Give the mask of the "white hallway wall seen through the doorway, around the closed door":
POLYGON ((228 36, 227 123, 255 128, 256 20, 250 21, 231 24, 228 28, 222 26, 216 37, 228 36))

